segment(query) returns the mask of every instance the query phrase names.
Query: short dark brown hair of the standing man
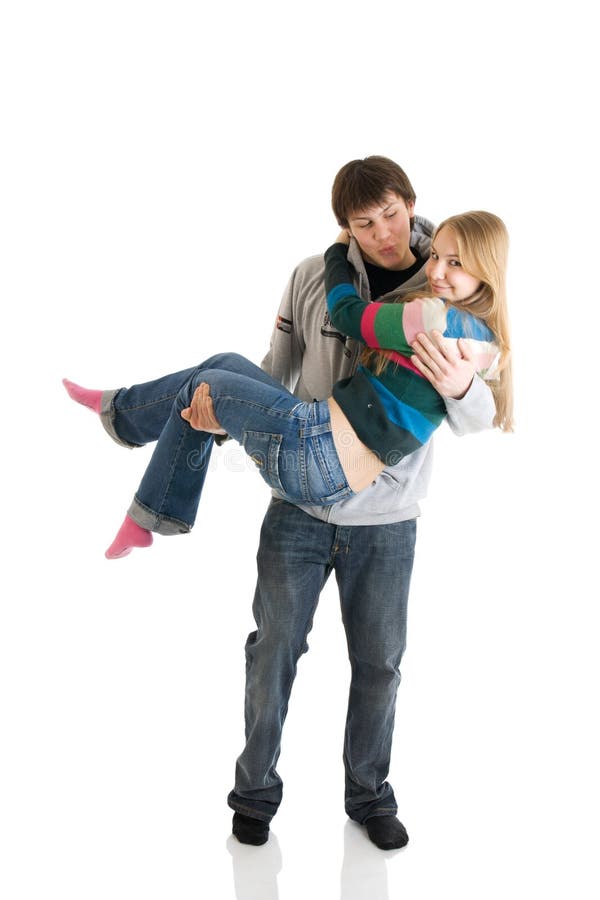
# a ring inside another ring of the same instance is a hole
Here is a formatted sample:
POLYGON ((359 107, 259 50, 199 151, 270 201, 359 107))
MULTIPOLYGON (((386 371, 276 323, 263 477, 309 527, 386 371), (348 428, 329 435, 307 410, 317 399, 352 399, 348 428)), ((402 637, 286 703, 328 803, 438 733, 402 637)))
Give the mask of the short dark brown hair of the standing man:
POLYGON ((347 228, 353 212, 376 206, 389 192, 407 203, 414 203, 417 198, 404 170, 386 156, 367 156, 346 163, 335 176, 331 191, 338 225, 347 228))

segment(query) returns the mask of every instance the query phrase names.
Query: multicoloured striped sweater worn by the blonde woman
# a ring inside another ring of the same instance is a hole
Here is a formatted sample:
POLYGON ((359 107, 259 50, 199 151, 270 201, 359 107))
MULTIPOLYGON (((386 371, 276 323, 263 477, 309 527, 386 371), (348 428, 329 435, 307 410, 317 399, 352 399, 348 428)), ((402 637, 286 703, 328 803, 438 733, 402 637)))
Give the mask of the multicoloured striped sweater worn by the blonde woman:
POLYGON ((325 289, 335 328, 383 350, 392 361, 381 375, 365 366, 333 387, 333 396, 360 440, 386 466, 394 465, 429 440, 446 416, 435 388, 410 362, 411 342, 436 329, 451 341, 463 338, 475 353, 484 378, 493 377, 498 348, 480 319, 438 297, 408 303, 365 303, 352 284, 347 247, 334 244, 325 253, 325 289))

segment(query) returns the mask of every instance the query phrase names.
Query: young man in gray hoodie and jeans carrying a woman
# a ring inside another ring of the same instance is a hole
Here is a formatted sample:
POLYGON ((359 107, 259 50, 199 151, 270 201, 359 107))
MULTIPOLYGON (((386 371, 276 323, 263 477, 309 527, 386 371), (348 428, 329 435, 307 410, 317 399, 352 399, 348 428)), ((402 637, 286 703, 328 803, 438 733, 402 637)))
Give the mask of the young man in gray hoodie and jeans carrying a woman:
MULTIPOLYGON (((394 300, 425 287, 433 227, 414 216, 415 193, 402 169, 384 157, 353 160, 337 174, 333 210, 351 241, 348 259, 365 300, 394 300)), ((300 400, 323 399, 355 369, 360 346, 329 322, 323 257, 294 271, 283 297, 263 368, 300 400)), ((491 392, 440 338, 420 338, 415 365, 444 396, 457 434, 492 426, 491 392)), ((210 406, 204 408, 209 422, 210 406)), ((404 846, 386 781, 394 728, 418 501, 427 490, 431 443, 386 469, 364 491, 333 507, 293 506, 273 499, 258 550, 254 596, 257 630, 246 644, 246 746, 235 787, 233 832, 243 843, 268 839, 281 802, 276 771, 298 658, 321 590, 335 571, 352 666, 344 741, 345 807, 382 849, 404 846)), ((315 735, 316 737, 316 735, 315 735)), ((313 806, 319 810, 318 797, 313 806)))

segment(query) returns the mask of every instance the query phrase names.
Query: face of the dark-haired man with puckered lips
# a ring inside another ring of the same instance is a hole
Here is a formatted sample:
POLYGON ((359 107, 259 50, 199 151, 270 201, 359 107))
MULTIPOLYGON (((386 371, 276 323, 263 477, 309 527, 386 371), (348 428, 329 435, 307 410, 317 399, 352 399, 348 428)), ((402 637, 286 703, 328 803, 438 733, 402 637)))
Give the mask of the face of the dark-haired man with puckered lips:
POLYGON ((354 210, 348 230, 356 238, 367 262, 382 269, 400 271, 411 266, 415 257, 410 250, 410 219, 415 204, 391 191, 375 206, 354 210))

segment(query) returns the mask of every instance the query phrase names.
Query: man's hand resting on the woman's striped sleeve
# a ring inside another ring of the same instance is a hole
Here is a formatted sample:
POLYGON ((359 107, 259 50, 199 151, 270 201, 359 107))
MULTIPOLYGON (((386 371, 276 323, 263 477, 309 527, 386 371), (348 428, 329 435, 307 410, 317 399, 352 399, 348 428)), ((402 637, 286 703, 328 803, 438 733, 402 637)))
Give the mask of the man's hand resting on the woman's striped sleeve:
POLYGON ((473 353, 462 339, 458 341, 458 354, 447 344, 439 331, 417 335, 413 344, 415 356, 411 362, 427 378, 442 397, 460 400, 465 396, 475 375, 473 353))

